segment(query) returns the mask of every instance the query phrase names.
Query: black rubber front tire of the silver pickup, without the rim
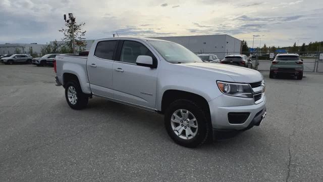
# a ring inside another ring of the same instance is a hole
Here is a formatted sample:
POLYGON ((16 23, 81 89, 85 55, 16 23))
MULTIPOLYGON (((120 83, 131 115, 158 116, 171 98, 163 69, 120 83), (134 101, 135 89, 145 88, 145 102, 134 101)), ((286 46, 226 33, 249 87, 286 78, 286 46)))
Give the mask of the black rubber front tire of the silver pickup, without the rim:
POLYGON ((208 123, 209 121, 206 118, 207 118, 206 111, 204 111, 196 103, 190 100, 182 99, 182 100, 174 101, 167 108, 164 119, 165 119, 166 130, 169 136, 171 137, 171 139, 173 139, 175 143, 184 147, 194 148, 203 144, 209 136, 209 132, 211 128, 209 127, 210 124, 208 123), (195 136, 193 136, 193 138, 191 139, 180 138, 180 136, 178 136, 172 128, 171 119, 173 117, 173 113, 180 109, 185 109, 191 112, 196 118, 198 128, 195 136))

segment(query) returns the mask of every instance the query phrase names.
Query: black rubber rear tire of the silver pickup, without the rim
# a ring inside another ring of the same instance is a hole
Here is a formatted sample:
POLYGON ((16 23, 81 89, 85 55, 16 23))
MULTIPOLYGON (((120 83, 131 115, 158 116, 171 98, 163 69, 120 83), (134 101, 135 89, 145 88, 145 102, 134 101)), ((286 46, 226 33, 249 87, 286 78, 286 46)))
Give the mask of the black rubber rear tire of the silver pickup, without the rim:
POLYGON ((87 103, 89 101, 89 97, 82 92, 79 82, 74 81, 74 80, 67 82, 67 84, 65 85, 65 98, 66 98, 68 105, 72 109, 75 109, 75 110, 80 110, 80 109, 86 108, 87 103), (74 87, 75 91, 76 91, 77 101, 74 104, 71 103, 71 101, 69 100, 69 97, 68 97, 68 89, 70 88, 70 86, 74 87))

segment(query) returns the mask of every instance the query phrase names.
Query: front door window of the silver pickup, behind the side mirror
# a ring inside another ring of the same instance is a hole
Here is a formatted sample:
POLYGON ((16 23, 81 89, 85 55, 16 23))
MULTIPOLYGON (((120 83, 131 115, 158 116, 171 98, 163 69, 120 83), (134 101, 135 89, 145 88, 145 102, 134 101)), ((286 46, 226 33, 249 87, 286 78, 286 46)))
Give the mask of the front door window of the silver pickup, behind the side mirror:
POLYGON ((145 45, 135 41, 124 41, 120 61, 136 64, 138 56, 150 56, 154 59, 153 54, 145 45))

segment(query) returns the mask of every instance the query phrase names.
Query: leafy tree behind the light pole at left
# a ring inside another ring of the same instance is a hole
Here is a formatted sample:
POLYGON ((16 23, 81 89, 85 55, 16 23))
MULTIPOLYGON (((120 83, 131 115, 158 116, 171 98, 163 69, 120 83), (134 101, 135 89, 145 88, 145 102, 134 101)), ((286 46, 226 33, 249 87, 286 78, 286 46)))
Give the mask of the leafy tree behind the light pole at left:
POLYGON ((86 47, 86 41, 85 41, 85 33, 86 30, 83 30, 83 26, 85 23, 76 24, 73 25, 71 23, 65 23, 65 28, 60 29, 59 31, 64 34, 64 38, 62 40, 67 41, 67 49, 70 53, 73 53, 73 34, 72 34, 72 26, 74 27, 74 39, 76 42, 77 47, 79 50, 82 50, 86 47))

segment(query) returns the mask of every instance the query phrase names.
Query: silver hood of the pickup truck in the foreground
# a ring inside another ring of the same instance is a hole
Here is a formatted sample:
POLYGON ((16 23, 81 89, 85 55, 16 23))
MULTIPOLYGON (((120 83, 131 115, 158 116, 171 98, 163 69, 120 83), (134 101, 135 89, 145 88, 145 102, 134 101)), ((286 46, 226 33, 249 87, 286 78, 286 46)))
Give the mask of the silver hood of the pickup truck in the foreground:
POLYGON ((241 83, 253 83, 263 80, 263 76, 259 71, 239 66, 217 63, 186 63, 180 65, 220 74, 226 74, 230 76, 234 81, 241 83))

